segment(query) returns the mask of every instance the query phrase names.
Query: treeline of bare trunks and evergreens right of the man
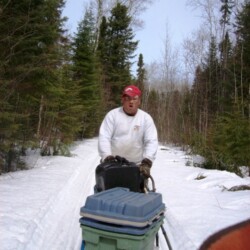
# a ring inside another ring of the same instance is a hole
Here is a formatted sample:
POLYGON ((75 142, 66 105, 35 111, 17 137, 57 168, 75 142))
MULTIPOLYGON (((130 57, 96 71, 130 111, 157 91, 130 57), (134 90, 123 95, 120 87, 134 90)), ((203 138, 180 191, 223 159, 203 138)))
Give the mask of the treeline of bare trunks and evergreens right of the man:
POLYGON ((191 88, 166 77, 163 91, 148 94, 147 108, 161 141, 189 145, 207 168, 240 174, 239 166, 250 166, 250 3, 237 9, 234 1, 221 0, 219 13, 220 39, 209 33, 191 88))

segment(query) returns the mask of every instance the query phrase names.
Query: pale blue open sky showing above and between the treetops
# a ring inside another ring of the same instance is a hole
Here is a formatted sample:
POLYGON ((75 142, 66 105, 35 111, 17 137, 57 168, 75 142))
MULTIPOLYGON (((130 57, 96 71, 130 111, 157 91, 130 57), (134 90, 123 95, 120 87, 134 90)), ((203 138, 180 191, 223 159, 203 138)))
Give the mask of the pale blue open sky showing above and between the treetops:
MULTIPOLYGON (((71 33, 76 32, 88 2, 66 1, 63 14, 69 18, 66 27, 71 33)), ((183 39, 190 36, 201 21, 196 12, 186 7, 186 0, 154 0, 142 13, 141 19, 144 21, 144 28, 136 31, 135 39, 139 40, 136 54, 142 53, 146 64, 162 59, 167 33, 174 47, 181 46, 183 39)))

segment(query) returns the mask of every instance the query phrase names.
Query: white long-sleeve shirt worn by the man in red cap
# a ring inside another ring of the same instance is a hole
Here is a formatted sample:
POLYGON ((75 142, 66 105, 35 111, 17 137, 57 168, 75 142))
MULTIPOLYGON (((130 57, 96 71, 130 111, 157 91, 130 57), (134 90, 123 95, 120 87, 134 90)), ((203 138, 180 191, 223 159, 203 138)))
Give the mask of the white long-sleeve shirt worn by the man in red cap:
POLYGON ((148 113, 138 109, 135 116, 130 116, 120 107, 105 116, 98 140, 99 155, 102 159, 109 155, 119 155, 136 163, 144 158, 153 162, 157 148, 157 130, 148 113))

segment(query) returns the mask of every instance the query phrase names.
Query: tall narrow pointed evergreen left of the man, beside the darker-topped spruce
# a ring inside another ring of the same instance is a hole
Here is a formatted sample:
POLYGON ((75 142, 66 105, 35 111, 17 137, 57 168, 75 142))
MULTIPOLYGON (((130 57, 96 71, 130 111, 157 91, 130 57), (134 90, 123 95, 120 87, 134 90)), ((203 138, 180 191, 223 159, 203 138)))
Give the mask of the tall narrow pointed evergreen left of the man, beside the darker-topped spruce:
POLYGON ((82 110, 81 137, 96 135, 100 122, 99 69, 95 55, 95 20, 92 9, 85 12, 74 41, 74 81, 80 86, 82 110))

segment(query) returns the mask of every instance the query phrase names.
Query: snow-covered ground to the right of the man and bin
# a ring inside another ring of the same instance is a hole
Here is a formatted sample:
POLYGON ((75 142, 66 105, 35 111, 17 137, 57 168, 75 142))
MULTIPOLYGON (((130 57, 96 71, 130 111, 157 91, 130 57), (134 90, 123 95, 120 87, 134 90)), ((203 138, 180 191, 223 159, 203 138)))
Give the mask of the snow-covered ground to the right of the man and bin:
POLYGON ((164 227, 173 249, 197 249, 210 234, 250 217, 249 191, 233 195, 222 191, 223 185, 231 187, 235 181, 249 185, 249 178, 244 180, 226 171, 183 167, 183 160, 190 160, 190 156, 177 148, 160 148, 163 150, 158 152, 152 174, 167 207, 164 227), (196 180, 201 174, 206 178, 196 180))

